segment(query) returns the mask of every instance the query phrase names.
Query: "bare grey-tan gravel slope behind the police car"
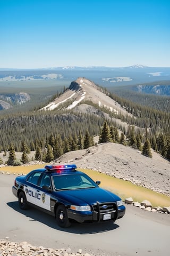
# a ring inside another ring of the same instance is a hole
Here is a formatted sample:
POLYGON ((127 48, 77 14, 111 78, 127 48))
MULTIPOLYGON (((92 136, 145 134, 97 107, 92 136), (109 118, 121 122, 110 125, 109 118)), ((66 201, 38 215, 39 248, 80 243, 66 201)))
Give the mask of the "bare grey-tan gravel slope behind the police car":
POLYGON ((97 170, 170 195, 170 163, 155 152, 149 158, 130 147, 102 143, 66 153, 57 162, 75 163, 79 168, 97 170))

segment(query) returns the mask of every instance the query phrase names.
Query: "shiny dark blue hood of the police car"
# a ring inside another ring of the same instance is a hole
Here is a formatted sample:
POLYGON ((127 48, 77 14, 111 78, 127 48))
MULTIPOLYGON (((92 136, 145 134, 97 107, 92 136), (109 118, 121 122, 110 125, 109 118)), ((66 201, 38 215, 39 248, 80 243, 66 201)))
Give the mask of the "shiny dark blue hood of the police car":
POLYGON ((87 189, 73 189, 56 191, 57 196, 64 201, 72 202, 75 205, 82 205, 83 203, 95 204, 96 202, 116 202, 121 198, 102 188, 87 188, 87 189))

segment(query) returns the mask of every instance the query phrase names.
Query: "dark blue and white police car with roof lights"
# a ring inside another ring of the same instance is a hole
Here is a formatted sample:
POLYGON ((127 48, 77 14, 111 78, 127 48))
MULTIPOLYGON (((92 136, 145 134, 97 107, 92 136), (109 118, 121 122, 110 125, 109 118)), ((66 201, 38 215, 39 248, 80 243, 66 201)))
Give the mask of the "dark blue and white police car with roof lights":
POLYGON ((28 206, 54 215, 58 226, 66 228, 77 222, 115 221, 125 214, 117 195, 100 188, 100 181, 72 165, 46 165, 42 169, 16 177, 13 194, 22 210, 28 206))

